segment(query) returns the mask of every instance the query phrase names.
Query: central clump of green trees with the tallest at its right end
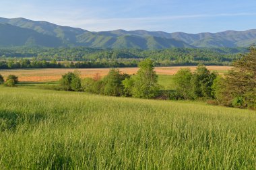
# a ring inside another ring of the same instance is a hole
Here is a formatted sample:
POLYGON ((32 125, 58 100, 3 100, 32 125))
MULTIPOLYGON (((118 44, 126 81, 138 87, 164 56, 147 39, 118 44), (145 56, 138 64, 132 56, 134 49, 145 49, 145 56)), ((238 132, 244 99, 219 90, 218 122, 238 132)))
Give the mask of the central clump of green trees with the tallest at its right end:
MULTIPOLYGON (((139 63, 139 68, 137 75, 133 75, 132 77, 121 73, 118 69, 110 69, 108 75, 103 79, 96 75, 93 78, 82 80, 82 89, 90 93, 111 96, 132 96, 147 99, 157 97, 159 95, 160 85, 158 85, 153 61, 150 58, 146 58, 139 63)), ((73 73, 68 74, 71 75, 73 73)), ((63 76, 63 79, 66 79, 65 77, 67 77, 67 74, 63 76)), ((61 79, 61 82, 63 82, 63 79, 61 79)), ((67 83, 62 84, 65 87, 67 83)), ((63 89, 69 91, 71 88, 63 89)))

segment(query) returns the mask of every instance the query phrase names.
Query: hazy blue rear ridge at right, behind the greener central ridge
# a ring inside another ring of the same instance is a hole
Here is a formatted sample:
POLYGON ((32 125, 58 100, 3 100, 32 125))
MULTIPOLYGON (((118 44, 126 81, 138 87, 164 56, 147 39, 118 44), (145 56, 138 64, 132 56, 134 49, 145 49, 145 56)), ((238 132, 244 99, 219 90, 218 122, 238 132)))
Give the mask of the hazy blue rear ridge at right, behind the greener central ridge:
POLYGON ((247 30, 243 32, 238 31, 226 31, 218 33, 199 33, 199 34, 187 34, 183 32, 148 32, 143 30, 137 31, 125 31, 115 30, 109 32, 100 32, 100 34, 112 34, 115 36, 136 35, 136 36, 154 36, 161 38, 174 38, 181 40, 187 44, 196 47, 236 47, 236 46, 249 46, 252 42, 255 42, 256 30, 247 30))

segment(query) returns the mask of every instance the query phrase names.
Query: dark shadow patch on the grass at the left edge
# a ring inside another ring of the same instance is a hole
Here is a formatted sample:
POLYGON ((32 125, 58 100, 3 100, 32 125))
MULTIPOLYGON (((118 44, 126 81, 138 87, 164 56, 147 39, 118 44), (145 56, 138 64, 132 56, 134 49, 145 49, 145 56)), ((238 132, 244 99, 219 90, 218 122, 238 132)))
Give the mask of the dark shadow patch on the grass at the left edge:
POLYGON ((0 109, 0 132, 6 130, 15 131, 19 125, 38 124, 44 119, 45 116, 42 114, 23 114, 0 109))

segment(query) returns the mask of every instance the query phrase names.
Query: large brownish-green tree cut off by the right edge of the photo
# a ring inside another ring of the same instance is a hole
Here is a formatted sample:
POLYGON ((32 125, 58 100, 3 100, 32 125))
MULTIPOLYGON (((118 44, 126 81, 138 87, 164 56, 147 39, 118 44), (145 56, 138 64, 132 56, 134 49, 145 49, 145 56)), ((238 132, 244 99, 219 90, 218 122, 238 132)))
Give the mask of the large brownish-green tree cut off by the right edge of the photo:
POLYGON ((256 46, 234 62, 226 75, 226 91, 232 105, 238 108, 256 108, 256 46))

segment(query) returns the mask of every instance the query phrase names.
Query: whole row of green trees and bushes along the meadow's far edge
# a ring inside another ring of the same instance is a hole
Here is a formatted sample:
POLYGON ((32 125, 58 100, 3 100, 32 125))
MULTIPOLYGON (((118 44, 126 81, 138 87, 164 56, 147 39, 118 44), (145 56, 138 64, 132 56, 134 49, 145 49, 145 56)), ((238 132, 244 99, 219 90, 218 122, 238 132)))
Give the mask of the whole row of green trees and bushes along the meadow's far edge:
MULTIPOLYGON (((236 60, 233 68, 224 76, 210 72, 204 65, 198 65, 194 72, 180 69, 174 75, 174 91, 161 90, 152 59, 141 60, 138 65, 139 71, 135 75, 111 69, 105 77, 95 75, 81 79, 78 71, 69 72, 62 76, 59 87, 53 89, 146 99, 199 99, 235 108, 256 109, 255 46, 251 46, 249 53, 236 60)), ((13 87, 17 81, 18 77, 10 75, 5 85, 13 87)), ((0 83, 3 82, 0 75, 0 83)))

